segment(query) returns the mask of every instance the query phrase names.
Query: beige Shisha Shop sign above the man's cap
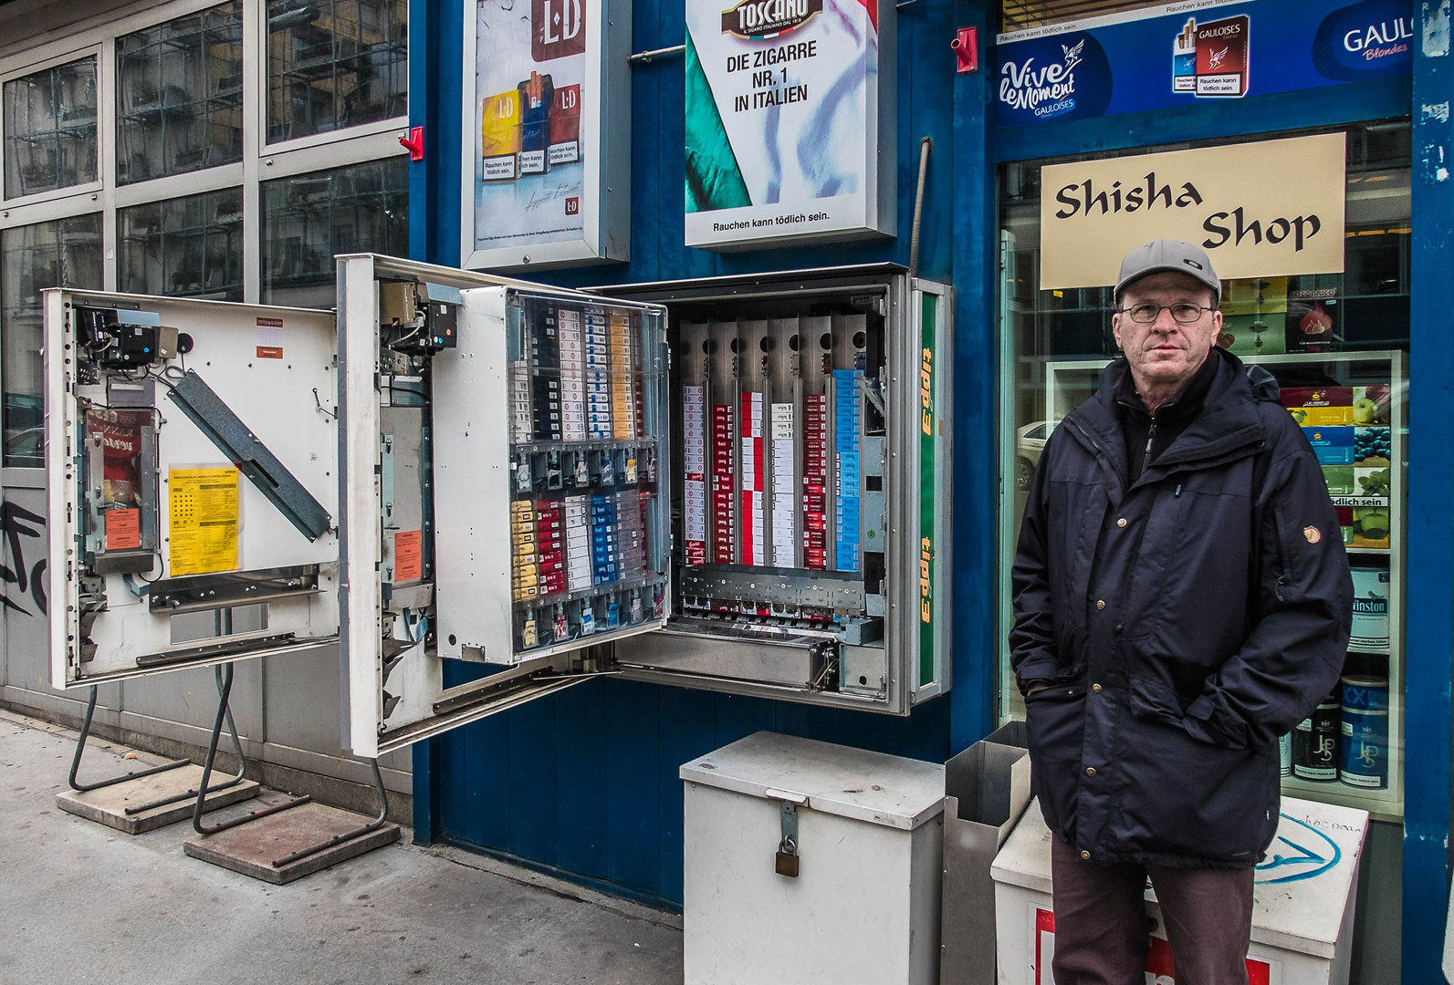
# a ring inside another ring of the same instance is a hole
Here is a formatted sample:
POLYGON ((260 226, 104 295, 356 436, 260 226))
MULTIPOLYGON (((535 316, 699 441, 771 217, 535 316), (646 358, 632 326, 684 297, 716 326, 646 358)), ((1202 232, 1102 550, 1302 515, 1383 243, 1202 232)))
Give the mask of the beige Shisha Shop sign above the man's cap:
POLYGON ((1223 280, 1343 269, 1343 135, 1041 169, 1040 289, 1115 283, 1121 257, 1195 243, 1223 280))

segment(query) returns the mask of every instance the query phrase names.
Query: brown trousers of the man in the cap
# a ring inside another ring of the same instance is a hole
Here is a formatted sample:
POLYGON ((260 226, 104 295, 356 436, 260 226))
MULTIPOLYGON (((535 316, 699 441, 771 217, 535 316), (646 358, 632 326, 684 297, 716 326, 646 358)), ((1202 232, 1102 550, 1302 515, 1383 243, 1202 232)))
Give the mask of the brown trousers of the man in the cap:
POLYGON ((1176 985, 1246 985, 1252 869, 1098 866, 1051 837, 1056 985, 1144 985, 1152 921, 1146 877, 1162 908, 1176 985))

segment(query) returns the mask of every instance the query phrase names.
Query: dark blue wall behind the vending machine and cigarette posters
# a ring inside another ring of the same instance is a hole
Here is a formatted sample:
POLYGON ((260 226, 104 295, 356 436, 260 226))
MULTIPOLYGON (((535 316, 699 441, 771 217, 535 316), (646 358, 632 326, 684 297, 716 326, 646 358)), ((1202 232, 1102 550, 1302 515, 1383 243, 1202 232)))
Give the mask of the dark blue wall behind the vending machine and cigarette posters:
MULTIPOLYGON (((459 106, 465 87, 473 84, 458 55, 467 29, 461 10, 458 3, 413 0, 410 12, 416 26, 411 123, 426 128, 427 148, 426 160, 411 166, 410 250, 417 259, 442 264, 459 262, 459 148, 461 139, 468 139, 461 134, 459 106), (417 32, 420 23, 429 25, 423 38, 417 32)), ((948 48, 954 36, 952 13, 948 4, 926 0, 899 15, 899 141, 885 148, 899 161, 897 237, 736 254, 685 247, 682 60, 666 57, 632 68, 631 262, 525 276, 580 286, 885 260, 907 264, 919 138, 928 135, 933 138, 933 154, 925 192, 920 272, 948 280, 955 221, 949 106, 960 94, 948 48)), ((680 44, 685 38, 680 0, 635 0, 634 35, 635 51, 680 44)), ((983 148, 974 148, 974 154, 983 157, 983 148)), ((980 167, 981 177, 983 171, 980 167)), ((981 302, 983 296, 977 296, 976 304, 981 302)), ((973 317, 987 321, 983 311, 973 317)), ((983 331, 973 337, 983 339, 983 331)), ((984 442, 993 447, 992 434, 980 439, 984 442)), ((984 478, 981 485, 971 495, 992 504, 993 479, 984 478)), ((981 507, 981 517, 992 516, 986 510, 981 507)), ((961 523, 960 536, 992 540, 992 527, 967 526, 961 523)), ((963 617, 983 620, 973 610, 963 617)), ((964 652, 954 655, 955 673, 965 660, 970 657, 964 652)), ((465 667, 452 668, 451 674, 448 683, 454 684, 478 671, 465 667)), ((419 744, 416 805, 425 809, 416 834, 422 840, 443 837, 467 843, 616 892, 678 905, 682 898, 678 767, 760 729, 942 761, 949 751, 949 702, 931 702, 912 718, 899 719, 615 678, 593 681, 419 744)), ((981 735, 987 718, 977 715, 967 731, 981 735)))

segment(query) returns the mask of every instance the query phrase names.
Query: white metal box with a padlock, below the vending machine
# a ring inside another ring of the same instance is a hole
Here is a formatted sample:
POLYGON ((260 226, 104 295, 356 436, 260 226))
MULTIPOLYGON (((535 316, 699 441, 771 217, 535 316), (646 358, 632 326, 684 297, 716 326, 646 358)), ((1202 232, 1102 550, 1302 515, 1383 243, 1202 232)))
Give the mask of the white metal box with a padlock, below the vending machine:
POLYGON ((686 985, 938 982, 942 764, 758 732, 680 777, 686 985))

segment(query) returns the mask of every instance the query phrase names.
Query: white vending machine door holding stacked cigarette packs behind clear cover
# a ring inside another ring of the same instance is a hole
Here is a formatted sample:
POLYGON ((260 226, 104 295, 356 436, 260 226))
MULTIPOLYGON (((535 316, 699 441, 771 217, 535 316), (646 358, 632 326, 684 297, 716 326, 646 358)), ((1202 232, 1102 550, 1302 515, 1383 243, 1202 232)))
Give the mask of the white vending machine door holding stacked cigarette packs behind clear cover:
POLYGON ((667 350, 657 305, 337 263, 346 744, 372 755, 664 625, 667 350))

